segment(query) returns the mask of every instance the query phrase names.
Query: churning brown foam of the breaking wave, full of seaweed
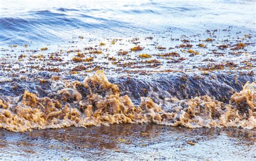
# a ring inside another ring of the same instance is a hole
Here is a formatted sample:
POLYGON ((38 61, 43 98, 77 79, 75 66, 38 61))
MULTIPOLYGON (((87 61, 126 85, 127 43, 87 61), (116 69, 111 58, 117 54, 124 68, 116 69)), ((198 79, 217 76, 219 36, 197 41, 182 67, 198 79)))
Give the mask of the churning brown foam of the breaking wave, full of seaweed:
MULTIPOLYGON (((229 104, 209 96, 172 99, 172 112, 166 112, 149 97, 141 97, 140 105, 135 106, 129 96, 120 95, 118 86, 110 83, 103 71, 97 71, 83 82, 58 81, 63 82, 63 88, 46 97, 26 90, 21 101, 0 96, 0 128, 23 132, 118 123, 157 123, 187 128, 253 129, 256 126, 254 82, 246 83, 241 92, 233 94, 229 104)), ((55 81, 51 83, 56 85, 55 81)))

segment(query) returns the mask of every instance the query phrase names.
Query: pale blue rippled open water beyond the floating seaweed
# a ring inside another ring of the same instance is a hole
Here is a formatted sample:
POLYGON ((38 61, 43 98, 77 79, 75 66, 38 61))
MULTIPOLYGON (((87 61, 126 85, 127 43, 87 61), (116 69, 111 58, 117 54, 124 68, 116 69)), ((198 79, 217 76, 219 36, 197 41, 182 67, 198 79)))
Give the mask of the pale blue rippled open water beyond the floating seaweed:
MULTIPOLYGON (((237 27, 255 34, 255 1, 1 1, 0 45, 63 44, 73 37, 175 35, 237 27)), ((234 32, 235 32, 234 31, 234 32)))

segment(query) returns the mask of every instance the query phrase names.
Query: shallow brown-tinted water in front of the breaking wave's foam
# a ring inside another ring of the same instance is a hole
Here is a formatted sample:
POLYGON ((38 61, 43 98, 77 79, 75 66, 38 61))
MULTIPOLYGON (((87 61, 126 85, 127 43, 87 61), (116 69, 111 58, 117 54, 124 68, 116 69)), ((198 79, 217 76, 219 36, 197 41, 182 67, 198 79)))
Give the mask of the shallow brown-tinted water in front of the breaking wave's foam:
POLYGON ((187 129, 156 124, 71 127, 24 133, 1 129, 0 159, 250 160, 256 158, 255 138, 255 130, 187 129))

